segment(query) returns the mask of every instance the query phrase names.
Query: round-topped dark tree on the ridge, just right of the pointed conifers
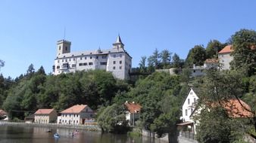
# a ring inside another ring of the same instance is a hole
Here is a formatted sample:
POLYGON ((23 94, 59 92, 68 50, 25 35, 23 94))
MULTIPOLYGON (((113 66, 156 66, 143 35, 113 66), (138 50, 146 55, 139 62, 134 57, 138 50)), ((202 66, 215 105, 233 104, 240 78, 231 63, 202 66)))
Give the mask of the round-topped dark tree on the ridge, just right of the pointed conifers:
POLYGON ((204 61, 206 59, 206 52, 202 45, 195 45, 191 50, 189 50, 189 54, 186 57, 185 65, 186 67, 192 68, 192 65, 204 65, 204 61))

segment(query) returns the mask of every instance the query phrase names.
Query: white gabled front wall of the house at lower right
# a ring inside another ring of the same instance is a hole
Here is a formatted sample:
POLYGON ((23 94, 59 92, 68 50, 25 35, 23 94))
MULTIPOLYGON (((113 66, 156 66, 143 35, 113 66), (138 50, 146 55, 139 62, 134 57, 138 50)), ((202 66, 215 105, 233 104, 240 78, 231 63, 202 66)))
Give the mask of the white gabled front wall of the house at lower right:
POLYGON ((195 110, 195 104, 198 100, 198 96, 195 93, 195 89, 191 88, 189 90, 188 95, 186 96, 186 99, 183 102, 183 116, 180 117, 183 120, 183 123, 179 123, 179 126, 187 127, 191 129, 192 132, 195 132, 195 123, 192 120, 192 117, 190 115, 195 110))

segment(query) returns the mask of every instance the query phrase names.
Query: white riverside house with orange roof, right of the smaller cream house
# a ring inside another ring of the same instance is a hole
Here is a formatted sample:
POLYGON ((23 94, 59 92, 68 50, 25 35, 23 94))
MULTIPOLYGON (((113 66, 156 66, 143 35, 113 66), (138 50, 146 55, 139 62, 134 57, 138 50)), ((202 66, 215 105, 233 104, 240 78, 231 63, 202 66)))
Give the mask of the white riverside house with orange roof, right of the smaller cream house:
POLYGON ((73 105, 58 116, 59 124, 85 124, 94 121, 94 111, 88 105, 73 105))

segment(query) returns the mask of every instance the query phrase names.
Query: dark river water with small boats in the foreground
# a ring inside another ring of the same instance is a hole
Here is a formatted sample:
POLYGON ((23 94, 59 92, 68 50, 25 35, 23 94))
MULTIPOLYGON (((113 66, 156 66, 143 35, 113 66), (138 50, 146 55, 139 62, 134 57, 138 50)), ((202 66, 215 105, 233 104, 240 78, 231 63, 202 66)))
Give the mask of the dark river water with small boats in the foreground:
POLYGON ((73 129, 52 129, 33 126, 0 126, 0 143, 161 143, 151 138, 136 137, 128 135, 114 135, 110 133, 89 132, 80 130, 72 137, 73 129), (58 132, 60 138, 54 138, 53 134, 58 132))

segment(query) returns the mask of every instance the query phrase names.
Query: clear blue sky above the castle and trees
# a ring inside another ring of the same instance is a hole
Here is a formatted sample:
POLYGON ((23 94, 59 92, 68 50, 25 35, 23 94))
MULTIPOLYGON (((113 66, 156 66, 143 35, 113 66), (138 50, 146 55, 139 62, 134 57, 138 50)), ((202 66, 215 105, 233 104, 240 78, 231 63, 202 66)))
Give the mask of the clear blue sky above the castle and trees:
POLYGON ((58 40, 71 52, 110 49, 118 34, 133 67, 156 48, 186 59, 196 44, 256 30, 255 15, 254 0, 0 0, 0 73, 16 78, 31 63, 50 73, 58 40))

